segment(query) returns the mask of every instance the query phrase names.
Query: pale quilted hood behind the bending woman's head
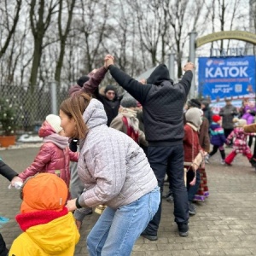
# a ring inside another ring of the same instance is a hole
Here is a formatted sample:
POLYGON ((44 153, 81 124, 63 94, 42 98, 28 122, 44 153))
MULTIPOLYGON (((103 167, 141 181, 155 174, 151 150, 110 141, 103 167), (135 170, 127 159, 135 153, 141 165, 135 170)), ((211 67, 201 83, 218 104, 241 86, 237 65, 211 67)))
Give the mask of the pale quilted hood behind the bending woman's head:
POLYGON ((90 100, 88 107, 84 111, 83 118, 89 129, 98 125, 107 125, 108 121, 102 102, 96 99, 90 100))

